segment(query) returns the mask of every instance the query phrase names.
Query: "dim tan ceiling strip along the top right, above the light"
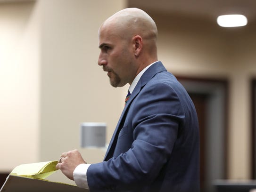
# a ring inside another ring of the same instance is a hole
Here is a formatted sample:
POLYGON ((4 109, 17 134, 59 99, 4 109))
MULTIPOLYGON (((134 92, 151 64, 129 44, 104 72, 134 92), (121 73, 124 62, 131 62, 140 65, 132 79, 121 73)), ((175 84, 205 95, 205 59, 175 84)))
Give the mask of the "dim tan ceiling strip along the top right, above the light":
POLYGON ((219 15, 242 14, 256 20, 256 0, 128 0, 129 7, 162 13, 179 13, 215 19, 219 15))

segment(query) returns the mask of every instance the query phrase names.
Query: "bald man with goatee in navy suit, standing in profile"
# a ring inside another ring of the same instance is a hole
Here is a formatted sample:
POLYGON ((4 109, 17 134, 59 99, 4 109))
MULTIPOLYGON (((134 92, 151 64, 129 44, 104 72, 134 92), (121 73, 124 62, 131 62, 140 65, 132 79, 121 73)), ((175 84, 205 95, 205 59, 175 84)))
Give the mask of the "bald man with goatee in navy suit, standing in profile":
POLYGON ((157 26, 137 8, 99 28, 98 64, 113 87, 131 93, 103 162, 86 164, 77 151, 56 168, 91 192, 198 192, 199 139, 194 105, 157 61, 157 26))

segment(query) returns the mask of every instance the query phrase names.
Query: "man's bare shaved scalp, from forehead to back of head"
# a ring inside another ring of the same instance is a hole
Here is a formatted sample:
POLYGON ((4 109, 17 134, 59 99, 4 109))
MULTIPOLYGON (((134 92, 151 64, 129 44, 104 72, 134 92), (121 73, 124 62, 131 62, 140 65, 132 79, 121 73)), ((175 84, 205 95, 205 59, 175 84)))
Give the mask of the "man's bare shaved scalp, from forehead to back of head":
POLYGON ((139 8, 125 8, 110 16, 99 28, 122 40, 139 35, 143 40, 143 52, 157 59, 157 26, 154 20, 139 8))

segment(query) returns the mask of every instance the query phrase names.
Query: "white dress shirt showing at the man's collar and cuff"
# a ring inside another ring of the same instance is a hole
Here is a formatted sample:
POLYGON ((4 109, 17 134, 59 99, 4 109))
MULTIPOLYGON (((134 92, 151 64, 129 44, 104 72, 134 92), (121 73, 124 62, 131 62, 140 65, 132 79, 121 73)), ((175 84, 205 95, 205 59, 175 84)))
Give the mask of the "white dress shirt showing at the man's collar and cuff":
MULTIPOLYGON (((155 64, 157 63, 154 62, 152 64, 155 64)), ((134 88, 136 87, 137 83, 139 82, 141 76, 143 75, 143 73, 152 65, 148 65, 147 67, 145 67, 136 77, 135 79, 132 81, 132 84, 130 85, 129 87, 129 91, 130 93, 132 94, 132 91, 134 90, 134 88)), ((89 189, 89 186, 88 186, 88 182, 87 182, 87 176, 86 176, 86 173, 87 173, 87 169, 90 167, 91 164, 85 164, 85 163, 82 163, 80 165, 78 165, 75 169, 74 169, 74 172, 73 172, 73 176, 74 176, 74 182, 75 184, 78 186, 78 187, 81 187, 81 188, 85 188, 85 189, 89 189)))

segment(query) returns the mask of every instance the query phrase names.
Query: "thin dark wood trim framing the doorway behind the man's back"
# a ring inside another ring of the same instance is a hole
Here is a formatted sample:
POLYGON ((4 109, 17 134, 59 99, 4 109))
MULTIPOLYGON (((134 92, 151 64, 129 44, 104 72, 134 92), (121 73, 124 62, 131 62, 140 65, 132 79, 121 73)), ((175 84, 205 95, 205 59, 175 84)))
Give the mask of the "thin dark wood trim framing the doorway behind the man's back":
POLYGON ((175 75, 175 77, 178 80, 188 80, 188 81, 196 81, 196 82, 202 82, 202 83, 217 83, 220 84, 221 86, 223 86, 224 88, 224 92, 225 92, 225 98, 224 98, 224 106, 223 106, 223 110, 224 110, 224 154, 223 154, 223 163, 224 163, 224 178, 223 179, 228 179, 228 172, 229 172, 229 167, 228 167, 228 144, 229 144, 229 137, 228 137, 228 133, 229 133, 229 114, 228 114, 228 109, 229 109, 229 81, 227 79, 224 78, 197 78, 197 77, 189 77, 189 76, 179 76, 179 75, 175 75))

